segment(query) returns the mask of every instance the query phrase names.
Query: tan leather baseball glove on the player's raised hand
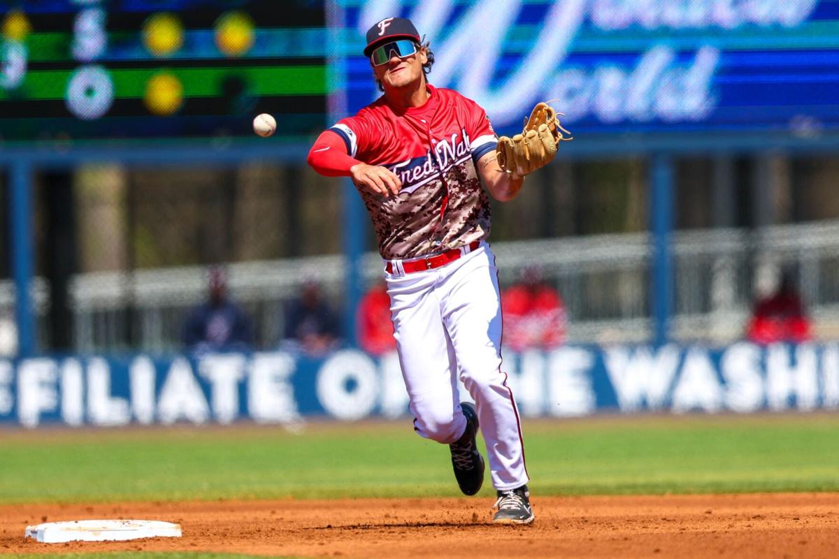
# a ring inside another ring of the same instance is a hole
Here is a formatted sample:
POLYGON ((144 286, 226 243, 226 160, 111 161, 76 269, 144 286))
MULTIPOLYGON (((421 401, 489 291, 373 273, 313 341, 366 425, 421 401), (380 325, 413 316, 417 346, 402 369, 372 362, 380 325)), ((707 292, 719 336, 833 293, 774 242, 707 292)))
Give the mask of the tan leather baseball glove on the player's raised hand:
POLYGON ((521 134, 498 138, 495 153, 498 165, 503 171, 521 177, 533 173, 539 167, 550 163, 560 142, 574 139, 571 133, 562 127, 558 115, 562 113, 556 112, 554 107, 547 103, 540 102, 530 112, 530 118, 524 123, 521 134))

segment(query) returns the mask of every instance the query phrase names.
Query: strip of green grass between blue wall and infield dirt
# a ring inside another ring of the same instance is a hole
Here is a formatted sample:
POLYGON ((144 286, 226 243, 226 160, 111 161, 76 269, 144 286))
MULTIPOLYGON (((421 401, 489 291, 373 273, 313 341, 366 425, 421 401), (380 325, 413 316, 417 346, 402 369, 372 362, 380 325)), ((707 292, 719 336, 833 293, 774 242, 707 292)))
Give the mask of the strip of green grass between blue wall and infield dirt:
MULTIPOLYGON (((524 422, 536 494, 835 491, 837 432, 829 414, 524 422)), ((4 504, 459 494, 409 421, 0 431, 0 472, 4 504)))

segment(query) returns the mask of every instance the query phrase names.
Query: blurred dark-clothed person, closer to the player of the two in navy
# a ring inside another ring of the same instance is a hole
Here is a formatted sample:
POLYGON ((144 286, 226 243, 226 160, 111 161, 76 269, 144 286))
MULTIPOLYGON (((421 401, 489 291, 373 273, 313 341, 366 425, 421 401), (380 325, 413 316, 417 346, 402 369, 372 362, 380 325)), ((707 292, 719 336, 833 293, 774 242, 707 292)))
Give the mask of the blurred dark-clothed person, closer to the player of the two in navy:
POLYGON ((285 315, 285 342, 312 356, 335 349, 340 336, 337 314, 323 298, 320 284, 308 280, 300 297, 289 303, 285 315))

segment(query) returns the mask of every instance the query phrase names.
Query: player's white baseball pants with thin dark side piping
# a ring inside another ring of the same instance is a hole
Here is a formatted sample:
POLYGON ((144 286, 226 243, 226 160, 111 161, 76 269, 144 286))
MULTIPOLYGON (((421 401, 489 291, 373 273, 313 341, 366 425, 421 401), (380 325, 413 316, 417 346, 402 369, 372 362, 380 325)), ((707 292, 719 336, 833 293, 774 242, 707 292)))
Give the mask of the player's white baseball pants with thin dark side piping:
POLYGON ((477 407, 492 485, 526 484, 519 411, 501 370, 501 299, 489 246, 422 272, 400 273, 399 261, 391 262, 385 280, 414 430, 439 443, 461 437, 460 378, 477 407))

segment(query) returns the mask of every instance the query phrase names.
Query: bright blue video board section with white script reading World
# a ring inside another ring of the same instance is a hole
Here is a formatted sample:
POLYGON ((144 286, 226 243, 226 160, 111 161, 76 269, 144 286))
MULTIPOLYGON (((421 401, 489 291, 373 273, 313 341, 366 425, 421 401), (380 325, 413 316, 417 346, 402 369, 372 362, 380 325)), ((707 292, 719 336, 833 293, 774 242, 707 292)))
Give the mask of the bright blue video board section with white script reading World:
POLYGON ((383 18, 430 41, 430 83, 499 133, 553 100, 578 137, 839 128, 837 0, 341 0, 347 111, 379 95, 362 55, 383 18))

